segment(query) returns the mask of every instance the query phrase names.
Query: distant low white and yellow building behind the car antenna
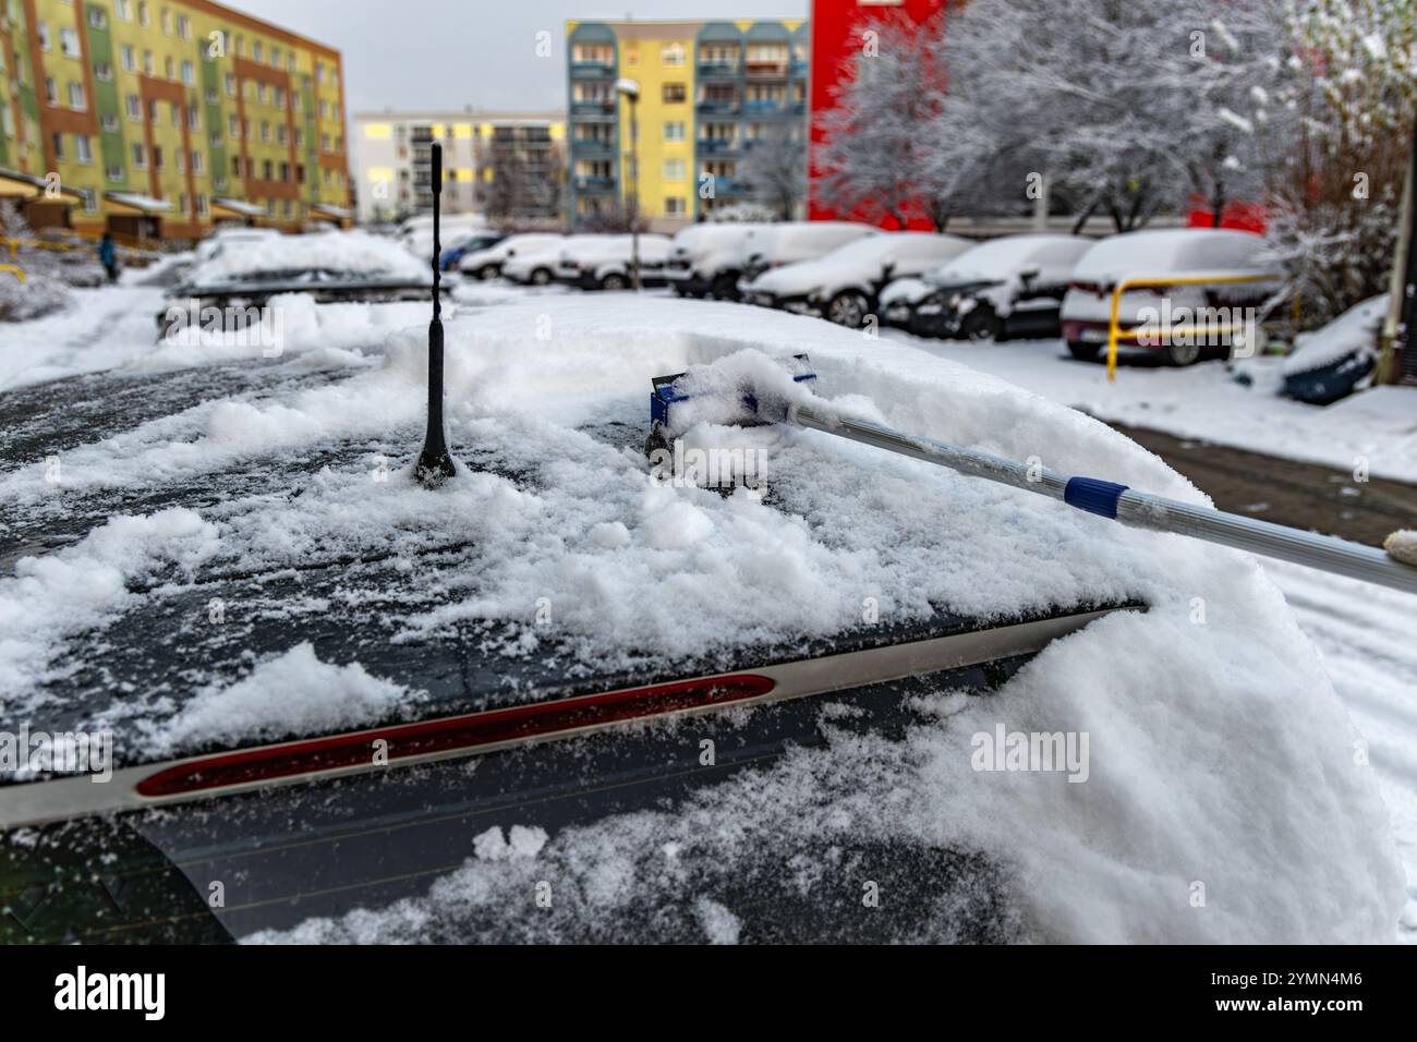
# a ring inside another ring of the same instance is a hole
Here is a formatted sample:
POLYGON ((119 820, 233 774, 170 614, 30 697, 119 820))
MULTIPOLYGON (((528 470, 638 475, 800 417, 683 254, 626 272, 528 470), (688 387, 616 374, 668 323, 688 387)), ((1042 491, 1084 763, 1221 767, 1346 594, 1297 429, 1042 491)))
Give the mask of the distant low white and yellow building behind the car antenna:
POLYGON ((361 224, 432 208, 432 143, 444 146, 442 208, 493 223, 560 221, 565 116, 560 112, 354 113, 361 224))

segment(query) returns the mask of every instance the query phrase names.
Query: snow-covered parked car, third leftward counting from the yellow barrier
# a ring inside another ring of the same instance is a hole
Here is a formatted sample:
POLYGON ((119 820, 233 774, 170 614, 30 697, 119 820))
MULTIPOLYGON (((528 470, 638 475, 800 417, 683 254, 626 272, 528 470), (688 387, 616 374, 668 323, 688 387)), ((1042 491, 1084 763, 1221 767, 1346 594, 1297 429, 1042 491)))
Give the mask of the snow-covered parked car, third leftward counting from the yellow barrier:
POLYGON ((866 235, 820 259, 765 271, 744 284, 743 298, 764 308, 813 315, 860 329, 893 278, 921 275, 973 245, 958 235, 897 231, 866 235))

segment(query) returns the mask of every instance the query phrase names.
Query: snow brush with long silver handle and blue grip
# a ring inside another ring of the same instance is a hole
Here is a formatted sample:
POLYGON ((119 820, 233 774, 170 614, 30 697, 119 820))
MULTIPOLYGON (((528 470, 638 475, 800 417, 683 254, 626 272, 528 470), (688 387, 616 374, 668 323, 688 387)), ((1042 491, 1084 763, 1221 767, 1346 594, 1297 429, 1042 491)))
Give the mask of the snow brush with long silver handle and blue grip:
MULTIPOLYGON (((805 354, 795 356, 791 369, 792 373, 788 379, 798 387, 816 380, 815 373, 805 371, 805 354)), ((650 381, 648 451, 652 452, 655 448, 670 444, 676 431, 684 430, 700 418, 700 415, 693 415, 687 422, 682 422, 683 415, 680 415, 680 421, 676 422, 676 411, 680 414, 706 413, 713 422, 741 427, 762 424, 803 427, 836 438, 873 445, 896 455, 947 466, 971 478, 983 478, 1051 499, 1061 499, 1078 510, 1087 510, 1132 527, 1203 539, 1263 557, 1292 561, 1319 571, 1331 571, 1335 576, 1348 576, 1417 594, 1417 567, 1399 560, 1399 557, 1411 560, 1411 540, 1407 539, 1410 533, 1394 533, 1389 537, 1389 553, 1384 553, 1376 547, 1350 543, 1345 539, 1182 503, 1176 499, 1136 492, 1127 485, 1100 478, 1066 476, 1005 456, 961 448, 935 438, 904 434, 864 420, 836 415, 832 410, 815 405, 811 393, 794 394, 785 383, 777 390, 740 383, 730 394, 724 393, 726 388, 721 386, 714 387, 711 381, 696 380, 696 376, 697 373, 690 370, 677 376, 656 377, 650 381), (717 397, 717 401, 711 403, 707 410, 700 404, 706 396, 717 397)), ((782 377, 778 377, 774 383, 781 380, 782 377)))

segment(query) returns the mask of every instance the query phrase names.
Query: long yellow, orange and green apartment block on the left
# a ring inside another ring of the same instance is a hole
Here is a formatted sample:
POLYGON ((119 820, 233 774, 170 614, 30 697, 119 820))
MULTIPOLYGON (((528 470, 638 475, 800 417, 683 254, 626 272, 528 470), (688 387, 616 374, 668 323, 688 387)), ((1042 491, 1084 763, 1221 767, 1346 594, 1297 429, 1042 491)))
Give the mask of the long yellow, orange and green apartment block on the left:
POLYGON ((35 227, 347 218, 339 51, 207 0, 3 3, 0 183, 35 227), (26 198, 34 177, 52 187, 26 198))

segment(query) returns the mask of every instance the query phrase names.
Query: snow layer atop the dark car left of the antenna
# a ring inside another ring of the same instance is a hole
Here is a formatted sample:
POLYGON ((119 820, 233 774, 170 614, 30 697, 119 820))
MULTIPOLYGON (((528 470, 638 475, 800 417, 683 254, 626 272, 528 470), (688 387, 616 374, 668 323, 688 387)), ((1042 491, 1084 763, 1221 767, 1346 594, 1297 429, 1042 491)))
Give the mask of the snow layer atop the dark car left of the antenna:
POLYGON ((188 281, 200 286, 312 272, 432 282, 429 261, 421 261, 393 240, 364 231, 222 241, 210 258, 193 267, 188 281))

